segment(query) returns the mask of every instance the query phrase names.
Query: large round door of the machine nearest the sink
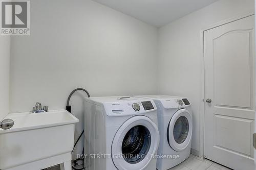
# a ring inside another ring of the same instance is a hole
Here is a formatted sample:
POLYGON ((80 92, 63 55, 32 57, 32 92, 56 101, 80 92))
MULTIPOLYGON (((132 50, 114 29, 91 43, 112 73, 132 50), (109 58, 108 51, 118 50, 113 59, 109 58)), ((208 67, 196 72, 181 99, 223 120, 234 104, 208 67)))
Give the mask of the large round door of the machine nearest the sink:
POLYGON ((118 129, 111 147, 117 169, 144 169, 157 151, 159 132, 146 116, 134 116, 118 129))

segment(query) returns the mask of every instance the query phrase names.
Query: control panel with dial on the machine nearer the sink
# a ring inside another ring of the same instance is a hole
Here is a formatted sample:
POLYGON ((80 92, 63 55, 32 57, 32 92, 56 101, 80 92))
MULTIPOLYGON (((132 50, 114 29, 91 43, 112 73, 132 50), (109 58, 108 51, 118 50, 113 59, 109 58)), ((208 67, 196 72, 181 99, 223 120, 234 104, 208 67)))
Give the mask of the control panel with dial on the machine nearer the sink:
POLYGON ((146 114, 157 110, 153 100, 137 100, 115 103, 104 103, 105 112, 108 116, 127 116, 146 114))

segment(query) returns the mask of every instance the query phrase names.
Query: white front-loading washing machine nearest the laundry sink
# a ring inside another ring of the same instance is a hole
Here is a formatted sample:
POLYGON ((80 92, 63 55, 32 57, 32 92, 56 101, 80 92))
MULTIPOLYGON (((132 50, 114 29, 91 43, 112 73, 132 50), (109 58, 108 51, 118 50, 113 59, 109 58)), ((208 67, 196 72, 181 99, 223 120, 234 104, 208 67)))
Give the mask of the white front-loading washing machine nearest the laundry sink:
POLYGON ((157 107, 151 99, 85 99, 84 167, 87 170, 155 170, 157 107))

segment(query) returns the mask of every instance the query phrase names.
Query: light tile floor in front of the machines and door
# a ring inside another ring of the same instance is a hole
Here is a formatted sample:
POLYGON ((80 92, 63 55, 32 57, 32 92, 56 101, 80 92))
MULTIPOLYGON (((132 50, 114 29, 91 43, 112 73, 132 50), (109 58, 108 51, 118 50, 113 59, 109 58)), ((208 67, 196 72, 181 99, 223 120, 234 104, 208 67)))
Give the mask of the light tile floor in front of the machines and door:
MULTIPOLYGON (((76 166, 80 168, 82 165, 76 166)), ((59 170, 59 167, 50 168, 49 170, 59 170)), ((227 167, 224 167, 218 163, 212 162, 208 159, 202 159, 195 155, 190 155, 184 162, 181 164, 170 168, 168 170, 230 170, 227 167)))

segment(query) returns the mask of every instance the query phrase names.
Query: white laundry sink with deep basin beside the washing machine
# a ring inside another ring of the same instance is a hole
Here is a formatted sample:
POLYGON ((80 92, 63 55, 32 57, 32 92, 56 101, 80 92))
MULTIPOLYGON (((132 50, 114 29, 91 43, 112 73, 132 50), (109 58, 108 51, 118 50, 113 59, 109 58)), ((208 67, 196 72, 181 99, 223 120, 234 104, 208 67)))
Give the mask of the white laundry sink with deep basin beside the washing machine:
POLYGON ((59 163, 71 169, 75 116, 56 110, 12 113, 5 118, 13 119, 14 126, 0 129, 0 169, 36 170, 59 163))

